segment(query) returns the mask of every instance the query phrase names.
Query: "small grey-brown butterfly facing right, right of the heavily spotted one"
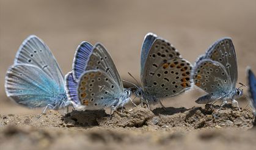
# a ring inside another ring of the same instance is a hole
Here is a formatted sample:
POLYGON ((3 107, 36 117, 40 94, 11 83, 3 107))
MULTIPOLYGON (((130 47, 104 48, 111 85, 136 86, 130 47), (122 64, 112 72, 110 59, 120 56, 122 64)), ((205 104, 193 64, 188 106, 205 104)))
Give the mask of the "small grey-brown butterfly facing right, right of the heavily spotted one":
POLYGON ((198 104, 222 100, 222 106, 232 99, 238 106, 235 99, 243 95, 243 90, 236 88, 238 71, 231 38, 221 38, 210 46, 197 59, 191 78, 197 87, 208 93, 196 100, 198 104))

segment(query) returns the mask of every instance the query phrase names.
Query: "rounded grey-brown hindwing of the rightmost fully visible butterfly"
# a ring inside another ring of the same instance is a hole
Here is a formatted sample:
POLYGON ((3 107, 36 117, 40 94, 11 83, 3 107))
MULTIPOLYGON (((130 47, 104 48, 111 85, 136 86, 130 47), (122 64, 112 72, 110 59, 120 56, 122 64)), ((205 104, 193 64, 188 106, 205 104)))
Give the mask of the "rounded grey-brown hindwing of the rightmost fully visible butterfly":
POLYGON ((224 66, 210 59, 203 59, 196 63, 192 70, 194 84, 212 96, 219 99, 232 90, 232 82, 224 66))

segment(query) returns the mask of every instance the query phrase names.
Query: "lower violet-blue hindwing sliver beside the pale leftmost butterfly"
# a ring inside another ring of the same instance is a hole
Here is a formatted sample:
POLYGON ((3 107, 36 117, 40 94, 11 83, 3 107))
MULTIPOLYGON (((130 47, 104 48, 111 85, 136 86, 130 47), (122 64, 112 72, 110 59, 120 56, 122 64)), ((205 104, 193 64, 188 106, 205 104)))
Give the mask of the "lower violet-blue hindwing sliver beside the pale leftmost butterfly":
POLYGON ((79 99, 78 99, 78 93, 77 93, 77 88, 78 84, 76 80, 73 78, 72 72, 69 72, 65 76, 65 87, 66 87, 66 94, 67 97, 70 101, 75 102, 75 104, 79 104, 79 99))

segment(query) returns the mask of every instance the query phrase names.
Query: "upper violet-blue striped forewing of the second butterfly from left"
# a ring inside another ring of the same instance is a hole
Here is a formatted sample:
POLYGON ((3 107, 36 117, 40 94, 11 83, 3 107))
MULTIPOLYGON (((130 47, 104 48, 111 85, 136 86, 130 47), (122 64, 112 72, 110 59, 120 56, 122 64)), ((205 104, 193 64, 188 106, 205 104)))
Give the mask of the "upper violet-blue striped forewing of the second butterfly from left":
POLYGON ((82 43, 76 49, 75 57, 73 60, 73 77, 78 82, 79 77, 84 72, 89 56, 92 53, 93 46, 87 41, 82 41, 82 43))

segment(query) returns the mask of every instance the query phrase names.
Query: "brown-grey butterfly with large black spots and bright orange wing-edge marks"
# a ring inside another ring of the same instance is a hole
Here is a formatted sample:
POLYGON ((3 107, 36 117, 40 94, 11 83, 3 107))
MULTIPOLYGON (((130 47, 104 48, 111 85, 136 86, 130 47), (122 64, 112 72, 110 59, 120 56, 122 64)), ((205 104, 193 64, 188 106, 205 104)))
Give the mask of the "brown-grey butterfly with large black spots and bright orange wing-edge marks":
POLYGON ((191 63, 167 40, 148 33, 141 49, 141 87, 135 94, 141 96, 141 102, 159 102, 164 108, 161 98, 178 95, 191 87, 191 68, 191 63))

